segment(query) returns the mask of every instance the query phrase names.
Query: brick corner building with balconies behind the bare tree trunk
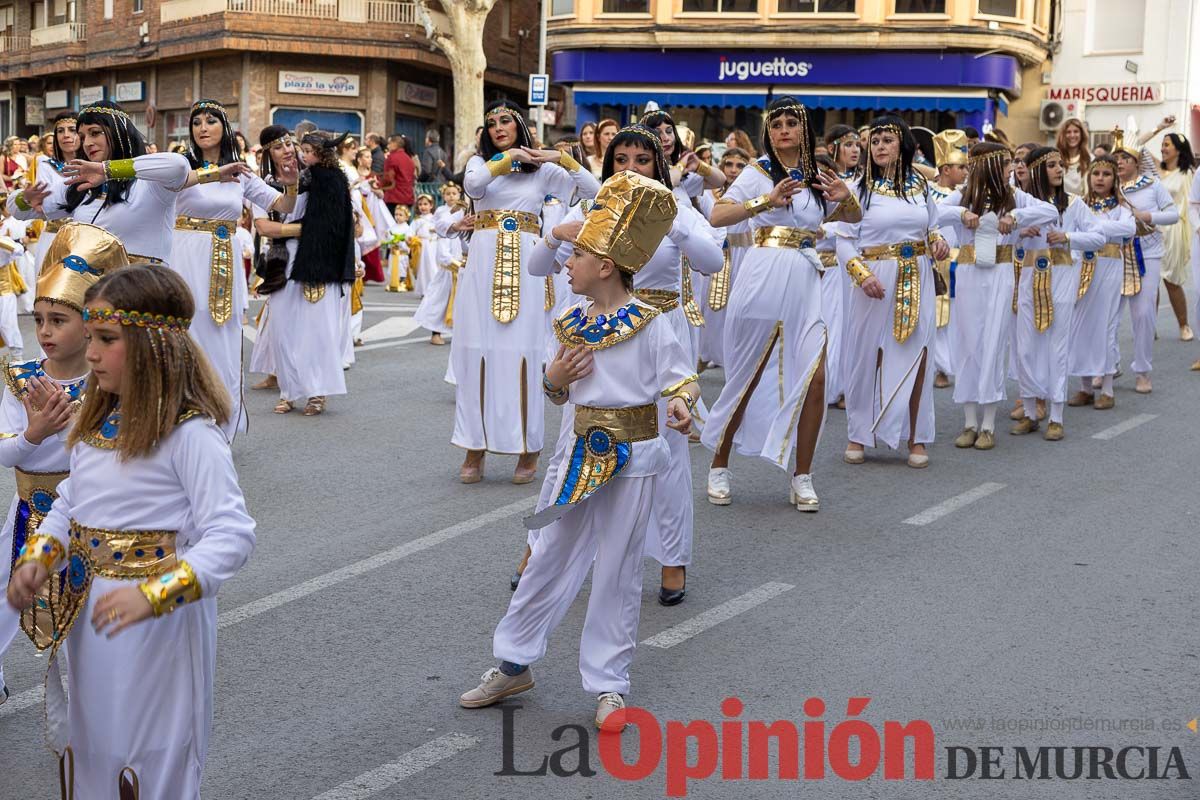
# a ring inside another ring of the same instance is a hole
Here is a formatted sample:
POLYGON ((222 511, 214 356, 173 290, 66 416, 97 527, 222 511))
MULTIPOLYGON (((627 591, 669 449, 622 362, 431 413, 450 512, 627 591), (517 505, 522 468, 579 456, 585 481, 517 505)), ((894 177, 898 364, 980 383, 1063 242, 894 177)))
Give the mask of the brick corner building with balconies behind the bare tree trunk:
MULTIPOLYGON (((524 96, 538 13, 536 0, 493 8, 488 97, 524 96)), ((310 120, 406 133, 420 148, 427 128, 452 142, 452 91, 410 0, 0 0, 5 136, 112 98, 164 146, 187 139, 188 108, 208 97, 251 140, 269 124, 310 120)))

